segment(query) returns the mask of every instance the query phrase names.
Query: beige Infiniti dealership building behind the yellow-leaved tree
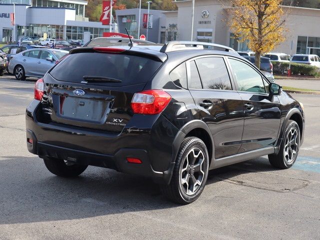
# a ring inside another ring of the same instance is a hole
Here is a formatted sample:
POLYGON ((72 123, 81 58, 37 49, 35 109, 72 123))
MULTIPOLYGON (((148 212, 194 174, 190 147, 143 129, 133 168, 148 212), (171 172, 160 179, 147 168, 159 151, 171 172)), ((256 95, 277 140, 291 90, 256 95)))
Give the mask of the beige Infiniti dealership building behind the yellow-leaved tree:
MULTIPOLYGON (((175 3, 177 11, 163 12, 166 22, 162 29, 176 23, 177 39, 191 40, 192 0, 175 3)), ((273 51, 320 55, 320 9, 289 6, 282 8, 286 39, 273 51)), ((235 50, 248 50, 246 42, 235 39, 228 27, 229 14, 232 12, 229 9, 232 9, 232 6, 228 0, 195 0, 192 40, 228 45, 235 50)))

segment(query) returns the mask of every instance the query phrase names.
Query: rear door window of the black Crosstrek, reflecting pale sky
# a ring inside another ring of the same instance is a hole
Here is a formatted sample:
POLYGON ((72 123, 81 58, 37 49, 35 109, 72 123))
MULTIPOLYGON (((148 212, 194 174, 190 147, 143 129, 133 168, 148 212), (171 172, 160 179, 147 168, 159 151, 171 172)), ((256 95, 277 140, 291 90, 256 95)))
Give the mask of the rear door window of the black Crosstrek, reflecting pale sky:
POLYGON ((202 57, 195 60, 204 89, 231 90, 231 81, 222 57, 202 57))

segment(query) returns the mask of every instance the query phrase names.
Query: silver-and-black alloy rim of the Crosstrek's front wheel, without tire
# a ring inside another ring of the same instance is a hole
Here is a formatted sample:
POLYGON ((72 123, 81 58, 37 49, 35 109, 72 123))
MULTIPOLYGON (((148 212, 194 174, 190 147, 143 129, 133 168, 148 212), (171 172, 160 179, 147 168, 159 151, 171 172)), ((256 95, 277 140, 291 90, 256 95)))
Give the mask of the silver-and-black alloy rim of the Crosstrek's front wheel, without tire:
POLYGON ((292 127, 286 135, 284 149, 283 149, 285 160, 288 163, 291 163, 295 159, 296 152, 298 149, 297 137, 298 137, 298 132, 294 127, 292 127))

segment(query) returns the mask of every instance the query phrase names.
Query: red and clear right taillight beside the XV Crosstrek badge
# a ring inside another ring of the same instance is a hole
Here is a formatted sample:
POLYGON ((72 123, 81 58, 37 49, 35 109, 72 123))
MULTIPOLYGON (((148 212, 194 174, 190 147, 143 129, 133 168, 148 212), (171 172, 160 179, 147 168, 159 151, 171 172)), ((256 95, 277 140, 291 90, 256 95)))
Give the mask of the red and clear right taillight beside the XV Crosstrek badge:
POLYGON ((131 108, 134 113, 157 114, 167 106, 170 100, 170 94, 163 90, 145 90, 134 93, 131 108))

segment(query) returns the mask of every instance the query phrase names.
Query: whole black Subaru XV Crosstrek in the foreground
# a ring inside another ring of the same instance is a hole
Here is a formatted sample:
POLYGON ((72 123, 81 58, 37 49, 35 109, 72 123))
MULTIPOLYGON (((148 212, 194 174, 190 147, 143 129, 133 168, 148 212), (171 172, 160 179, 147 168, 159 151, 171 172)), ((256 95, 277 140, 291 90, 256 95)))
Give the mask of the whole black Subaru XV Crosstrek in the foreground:
POLYGON ((209 169, 263 155, 289 168, 303 131, 301 103, 232 48, 204 42, 72 49, 26 108, 27 148, 53 174, 94 165, 149 176, 183 204, 209 169))

